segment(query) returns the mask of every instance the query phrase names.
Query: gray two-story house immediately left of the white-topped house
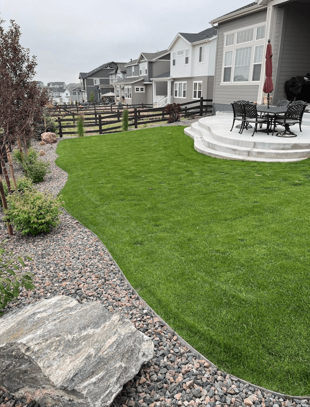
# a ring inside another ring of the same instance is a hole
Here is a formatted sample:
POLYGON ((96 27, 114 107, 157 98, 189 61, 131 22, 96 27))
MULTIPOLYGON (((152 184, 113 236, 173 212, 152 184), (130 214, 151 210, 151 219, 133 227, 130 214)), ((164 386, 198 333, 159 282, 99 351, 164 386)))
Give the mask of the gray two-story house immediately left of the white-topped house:
POLYGON ((114 83, 115 101, 128 105, 153 104, 153 83, 151 78, 169 71, 168 50, 157 53, 141 53, 138 59, 125 64, 126 78, 114 83))

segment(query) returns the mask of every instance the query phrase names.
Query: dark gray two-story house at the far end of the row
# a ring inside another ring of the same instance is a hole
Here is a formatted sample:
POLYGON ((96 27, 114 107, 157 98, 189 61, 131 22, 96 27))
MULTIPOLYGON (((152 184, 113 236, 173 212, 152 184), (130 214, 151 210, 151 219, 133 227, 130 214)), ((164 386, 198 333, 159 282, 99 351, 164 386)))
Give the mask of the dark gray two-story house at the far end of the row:
MULTIPOLYGON (((99 92, 98 85, 109 85, 110 84, 110 72, 117 68, 116 62, 108 62, 95 68, 94 70, 85 73, 81 72, 79 74, 79 79, 81 83, 81 94, 84 101, 89 101, 90 92, 93 92, 95 96, 95 101, 101 100, 102 91, 99 92)), ((111 89, 111 88, 110 88, 111 89)), ((110 92, 110 89, 107 92, 110 92)))

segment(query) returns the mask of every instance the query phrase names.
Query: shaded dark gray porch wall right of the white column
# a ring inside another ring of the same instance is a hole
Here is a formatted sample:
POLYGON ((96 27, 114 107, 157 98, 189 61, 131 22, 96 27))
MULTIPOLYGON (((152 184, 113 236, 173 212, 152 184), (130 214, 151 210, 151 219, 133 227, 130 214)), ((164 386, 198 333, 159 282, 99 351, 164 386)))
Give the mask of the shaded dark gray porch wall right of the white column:
POLYGON ((305 76, 310 71, 310 4, 294 2, 284 7, 275 99, 286 99, 284 83, 293 76, 305 76), (304 18, 301 18, 303 16, 304 18))

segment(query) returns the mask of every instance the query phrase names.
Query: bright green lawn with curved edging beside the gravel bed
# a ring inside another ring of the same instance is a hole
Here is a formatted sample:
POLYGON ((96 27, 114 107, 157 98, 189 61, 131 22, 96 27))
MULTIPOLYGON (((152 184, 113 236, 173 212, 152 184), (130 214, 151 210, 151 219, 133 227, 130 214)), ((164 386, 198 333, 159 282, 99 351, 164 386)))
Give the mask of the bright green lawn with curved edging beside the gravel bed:
POLYGON ((183 129, 62 141, 65 208, 218 367, 309 394, 310 161, 218 160, 183 129))

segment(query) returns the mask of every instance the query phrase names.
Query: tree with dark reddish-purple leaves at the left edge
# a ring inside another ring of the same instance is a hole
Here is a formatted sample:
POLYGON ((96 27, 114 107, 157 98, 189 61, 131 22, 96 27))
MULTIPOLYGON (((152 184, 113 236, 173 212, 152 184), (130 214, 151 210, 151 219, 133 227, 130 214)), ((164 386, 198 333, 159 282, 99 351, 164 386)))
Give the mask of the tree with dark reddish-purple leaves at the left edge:
MULTIPOLYGON (((32 136, 34 121, 42 114, 47 97, 33 80, 37 63, 28 48, 20 45, 20 26, 11 20, 4 31, 0 18, 0 162, 8 189, 9 177, 4 164, 6 151, 20 140, 26 148, 32 136)), ((7 206, 0 176, 0 195, 4 208, 7 206)), ((9 234, 13 234, 11 226, 9 234)))

